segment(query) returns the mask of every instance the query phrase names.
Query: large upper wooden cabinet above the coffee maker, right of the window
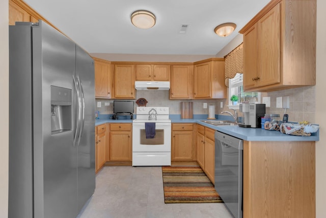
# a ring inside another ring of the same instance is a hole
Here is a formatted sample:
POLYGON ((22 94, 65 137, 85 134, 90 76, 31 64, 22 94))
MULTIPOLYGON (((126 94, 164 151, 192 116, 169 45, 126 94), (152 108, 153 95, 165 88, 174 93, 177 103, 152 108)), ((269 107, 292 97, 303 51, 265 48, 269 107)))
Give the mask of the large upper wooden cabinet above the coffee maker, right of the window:
POLYGON ((316 0, 270 1, 240 33, 245 91, 316 84, 316 0))

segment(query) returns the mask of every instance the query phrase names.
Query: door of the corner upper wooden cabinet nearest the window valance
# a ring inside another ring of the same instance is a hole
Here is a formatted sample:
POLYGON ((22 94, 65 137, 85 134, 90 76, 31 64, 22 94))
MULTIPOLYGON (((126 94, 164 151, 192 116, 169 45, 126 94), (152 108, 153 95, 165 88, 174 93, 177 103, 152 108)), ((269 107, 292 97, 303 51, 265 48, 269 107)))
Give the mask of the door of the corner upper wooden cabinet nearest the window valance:
POLYGON ((211 63, 195 65, 194 98, 211 98, 212 96, 211 63))

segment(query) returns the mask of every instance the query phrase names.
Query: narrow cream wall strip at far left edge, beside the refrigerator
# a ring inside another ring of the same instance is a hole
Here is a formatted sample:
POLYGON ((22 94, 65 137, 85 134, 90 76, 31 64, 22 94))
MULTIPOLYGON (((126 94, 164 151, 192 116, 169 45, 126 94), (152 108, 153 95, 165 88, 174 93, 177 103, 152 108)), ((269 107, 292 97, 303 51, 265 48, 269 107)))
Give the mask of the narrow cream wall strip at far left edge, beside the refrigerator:
POLYGON ((0 217, 8 217, 9 52, 8 1, 0 1, 0 217))

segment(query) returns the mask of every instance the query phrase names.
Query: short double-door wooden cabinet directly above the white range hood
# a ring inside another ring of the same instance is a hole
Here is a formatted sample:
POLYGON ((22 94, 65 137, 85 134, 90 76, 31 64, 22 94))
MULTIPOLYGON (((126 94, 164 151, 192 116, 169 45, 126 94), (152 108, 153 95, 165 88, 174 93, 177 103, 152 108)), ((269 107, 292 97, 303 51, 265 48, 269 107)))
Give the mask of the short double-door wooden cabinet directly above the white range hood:
POLYGON ((169 81, 170 65, 137 64, 137 81, 169 81))

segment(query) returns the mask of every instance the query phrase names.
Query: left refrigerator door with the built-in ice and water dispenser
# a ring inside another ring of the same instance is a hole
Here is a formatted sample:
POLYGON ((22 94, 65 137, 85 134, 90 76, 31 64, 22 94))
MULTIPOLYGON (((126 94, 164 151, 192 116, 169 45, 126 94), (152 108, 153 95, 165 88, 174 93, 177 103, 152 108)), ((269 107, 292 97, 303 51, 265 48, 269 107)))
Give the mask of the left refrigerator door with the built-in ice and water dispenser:
POLYGON ((76 217, 75 43, 42 21, 32 34, 34 216, 76 217))

